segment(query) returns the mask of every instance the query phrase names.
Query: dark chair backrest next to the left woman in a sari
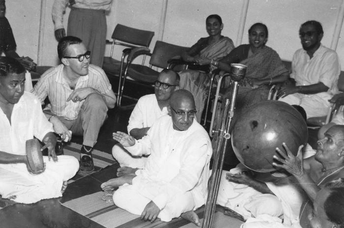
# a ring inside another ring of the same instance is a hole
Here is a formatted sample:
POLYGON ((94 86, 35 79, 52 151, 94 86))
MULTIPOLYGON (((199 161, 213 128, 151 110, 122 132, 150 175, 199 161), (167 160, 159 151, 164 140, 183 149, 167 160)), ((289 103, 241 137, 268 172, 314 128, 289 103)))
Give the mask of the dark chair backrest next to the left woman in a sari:
POLYGON ((167 61, 172 57, 180 56, 188 47, 156 41, 149 64, 160 68, 167 68, 167 61))

